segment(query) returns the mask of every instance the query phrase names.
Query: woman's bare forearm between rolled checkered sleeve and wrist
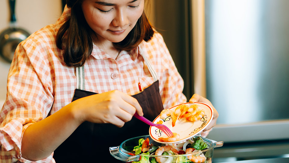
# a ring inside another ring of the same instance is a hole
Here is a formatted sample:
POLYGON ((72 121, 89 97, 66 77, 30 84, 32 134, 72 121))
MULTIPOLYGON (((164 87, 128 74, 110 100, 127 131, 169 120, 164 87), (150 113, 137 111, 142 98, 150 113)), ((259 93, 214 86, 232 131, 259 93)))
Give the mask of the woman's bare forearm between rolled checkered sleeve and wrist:
POLYGON ((22 137, 22 157, 31 161, 47 158, 82 123, 73 105, 27 127, 22 137))

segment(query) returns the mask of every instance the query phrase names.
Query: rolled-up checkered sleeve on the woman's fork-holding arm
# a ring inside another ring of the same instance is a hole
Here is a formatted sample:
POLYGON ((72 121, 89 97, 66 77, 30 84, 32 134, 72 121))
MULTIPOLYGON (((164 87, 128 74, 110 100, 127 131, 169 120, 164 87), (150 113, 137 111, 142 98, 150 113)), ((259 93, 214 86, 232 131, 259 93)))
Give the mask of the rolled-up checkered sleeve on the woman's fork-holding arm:
MULTIPOLYGON (((32 40, 21 42, 8 73, 6 101, 0 112, 0 162, 33 162, 22 158, 25 129, 47 117, 53 104, 51 72, 32 40)), ((49 67, 49 66, 48 66, 49 67)), ((48 158, 34 162, 54 162, 48 158)))

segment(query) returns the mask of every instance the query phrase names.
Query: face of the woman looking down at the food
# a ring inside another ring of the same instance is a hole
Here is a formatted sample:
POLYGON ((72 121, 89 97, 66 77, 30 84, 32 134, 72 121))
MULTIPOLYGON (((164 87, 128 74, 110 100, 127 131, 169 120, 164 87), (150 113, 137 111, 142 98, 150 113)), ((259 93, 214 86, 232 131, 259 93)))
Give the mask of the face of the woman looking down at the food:
POLYGON ((98 41, 120 42, 135 26, 144 0, 84 0, 82 11, 98 41))

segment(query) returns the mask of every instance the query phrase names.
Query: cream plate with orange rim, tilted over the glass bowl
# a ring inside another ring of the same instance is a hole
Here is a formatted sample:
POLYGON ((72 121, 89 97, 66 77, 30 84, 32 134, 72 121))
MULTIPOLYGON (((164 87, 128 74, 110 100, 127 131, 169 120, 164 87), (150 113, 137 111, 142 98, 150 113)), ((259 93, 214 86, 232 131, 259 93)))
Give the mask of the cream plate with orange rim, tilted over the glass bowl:
MULTIPOLYGON (((173 133, 179 134, 179 139, 174 141, 164 141, 162 138, 168 138, 165 133, 163 133, 160 129, 158 129, 155 126, 151 126, 149 129, 149 134, 151 136, 151 139, 153 139, 156 142, 163 143, 163 144, 172 144, 172 143, 182 143, 186 142, 191 137, 199 134, 201 131, 203 131, 212 121, 213 119, 213 109, 205 103, 202 102, 195 102, 195 103, 183 103, 188 105, 190 107, 193 104, 197 104, 200 106, 201 109, 204 110, 204 116, 200 120, 196 121, 189 121, 186 118, 182 118, 180 120, 176 120, 176 124, 173 127, 172 126, 172 117, 168 116, 165 119, 160 118, 160 115, 157 116, 153 123, 162 123, 163 125, 166 125, 173 133)), ((179 104, 182 105, 182 104, 179 104)), ((169 108, 172 111, 175 111, 175 109, 179 106, 176 105, 174 107, 169 108)), ((179 118, 179 116, 177 117, 179 118)))

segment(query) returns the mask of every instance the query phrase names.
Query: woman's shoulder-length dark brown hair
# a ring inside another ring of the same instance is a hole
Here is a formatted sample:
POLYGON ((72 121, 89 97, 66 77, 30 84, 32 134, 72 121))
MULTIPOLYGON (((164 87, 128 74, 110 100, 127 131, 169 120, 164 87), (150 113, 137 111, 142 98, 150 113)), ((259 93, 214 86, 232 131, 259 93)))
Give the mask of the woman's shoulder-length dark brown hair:
MULTIPOLYGON (((63 50, 64 62, 67 66, 83 66, 92 53, 93 43, 90 36, 92 29, 85 21, 81 4, 83 0, 67 0, 67 7, 71 8, 71 15, 60 27, 56 35, 56 46, 63 50)), ((126 38, 113 43, 117 50, 132 50, 142 40, 149 41, 154 30, 143 12, 135 27, 126 38)))

